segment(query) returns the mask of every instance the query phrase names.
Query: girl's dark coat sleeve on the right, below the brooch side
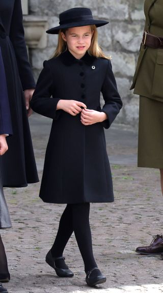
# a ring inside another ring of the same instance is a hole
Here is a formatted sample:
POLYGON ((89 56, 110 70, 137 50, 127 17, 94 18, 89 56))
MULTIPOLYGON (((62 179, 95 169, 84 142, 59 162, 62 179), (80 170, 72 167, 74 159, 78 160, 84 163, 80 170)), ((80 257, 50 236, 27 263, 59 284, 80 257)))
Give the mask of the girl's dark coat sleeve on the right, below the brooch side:
POLYGON ((117 90, 116 80, 112 71, 111 61, 108 60, 108 66, 104 82, 102 84, 101 93, 105 101, 101 111, 107 115, 107 120, 102 122, 104 128, 109 128, 115 120, 117 114, 122 108, 122 100, 117 90))

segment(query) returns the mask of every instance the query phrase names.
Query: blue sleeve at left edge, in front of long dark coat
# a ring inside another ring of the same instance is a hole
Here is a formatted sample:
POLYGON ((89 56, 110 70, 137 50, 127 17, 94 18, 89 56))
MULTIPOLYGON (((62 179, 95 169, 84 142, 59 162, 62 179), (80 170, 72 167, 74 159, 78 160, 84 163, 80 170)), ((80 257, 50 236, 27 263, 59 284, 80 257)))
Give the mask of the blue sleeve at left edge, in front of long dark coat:
POLYGON ((0 48, 0 134, 12 134, 6 75, 0 48))

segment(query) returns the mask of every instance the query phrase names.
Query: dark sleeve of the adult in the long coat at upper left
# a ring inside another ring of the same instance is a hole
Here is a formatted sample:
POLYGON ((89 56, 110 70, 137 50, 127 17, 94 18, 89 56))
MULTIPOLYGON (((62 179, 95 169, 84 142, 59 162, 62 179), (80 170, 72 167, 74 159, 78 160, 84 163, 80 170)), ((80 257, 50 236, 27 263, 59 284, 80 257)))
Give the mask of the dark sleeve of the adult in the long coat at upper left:
POLYGON ((21 0, 15 0, 11 19, 10 39, 14 47, 23 90, 34 89, 35 80, 28 60, 22 24, 21 0))

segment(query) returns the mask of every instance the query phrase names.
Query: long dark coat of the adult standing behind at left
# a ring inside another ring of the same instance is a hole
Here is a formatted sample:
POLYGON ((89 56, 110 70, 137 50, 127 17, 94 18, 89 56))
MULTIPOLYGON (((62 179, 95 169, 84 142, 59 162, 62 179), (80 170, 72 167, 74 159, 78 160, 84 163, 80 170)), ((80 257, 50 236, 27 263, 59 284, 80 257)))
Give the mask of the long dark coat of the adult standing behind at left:
POLYGON ((5 67, 13 135, 1 157, 3 185, 22 187, 38 182, 23 90, 35 81, 26 52, 21 0, 0 1, 0 46, 5 67))

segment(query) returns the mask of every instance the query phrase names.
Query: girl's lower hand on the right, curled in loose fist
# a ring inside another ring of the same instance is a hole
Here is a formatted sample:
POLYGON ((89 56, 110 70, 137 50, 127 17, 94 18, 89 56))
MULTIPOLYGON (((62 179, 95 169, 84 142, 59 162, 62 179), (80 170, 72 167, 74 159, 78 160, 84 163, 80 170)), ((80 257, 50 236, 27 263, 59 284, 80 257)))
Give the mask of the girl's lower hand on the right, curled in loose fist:
POLYGON ((90 109, 83 109, 81 113, 81 122, 84 125, 92 125, 97 122, 102 122, 107 119, 104 112, 99 112, 90 109))

